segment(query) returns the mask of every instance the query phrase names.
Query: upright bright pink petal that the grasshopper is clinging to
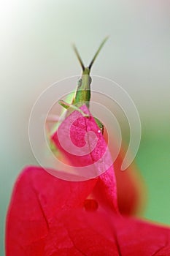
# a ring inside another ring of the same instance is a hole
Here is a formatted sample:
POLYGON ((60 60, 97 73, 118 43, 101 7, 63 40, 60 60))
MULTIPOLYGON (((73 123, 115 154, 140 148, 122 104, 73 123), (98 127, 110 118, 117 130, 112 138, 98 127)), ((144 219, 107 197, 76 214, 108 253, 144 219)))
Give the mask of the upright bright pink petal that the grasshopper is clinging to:
MULTIPOLYGON (((85 105, 81 109, 90 116, 90 112, 85 105)), ((81 170, 78 169, 80 176, 94 178, 100 175, 98 187, 101 187, 101 191, 105 192, 104 200, 108 200, 112 204, 112 208, 117 211, 117 189, 112 157, 103 135, 98 130, 96 121, 92 116, 87 118, 78 111, 74 111, 62 122, 52 139, 57 148, 69 159, 73 168, 75 166, 85 167, 84 173, 81 173, 81 170), (85 141, 87 132, 93 132, 93 135, 88 134, 88 139, 85 141), (94 135, 96 135, 96 140, 94 135), (66 148, 63 148, 63 146, 66 148), (91 148, 93 148, 92 151, 91 148), (75 150, 77 154, 74 154, 75 150), (92 165, 93 167, 91 167, 92 165), (88 169, 88 167, 91 168, 88 169)))

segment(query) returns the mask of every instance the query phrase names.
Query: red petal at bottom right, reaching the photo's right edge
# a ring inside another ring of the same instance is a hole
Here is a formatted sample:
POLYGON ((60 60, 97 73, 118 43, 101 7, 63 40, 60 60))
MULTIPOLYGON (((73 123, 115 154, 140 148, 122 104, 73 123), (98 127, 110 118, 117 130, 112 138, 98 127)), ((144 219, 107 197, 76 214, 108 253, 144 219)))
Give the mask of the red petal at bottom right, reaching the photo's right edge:
POLYGON ((61 217, 82 255, 169 256, 170 229, 100 211, 61 217))

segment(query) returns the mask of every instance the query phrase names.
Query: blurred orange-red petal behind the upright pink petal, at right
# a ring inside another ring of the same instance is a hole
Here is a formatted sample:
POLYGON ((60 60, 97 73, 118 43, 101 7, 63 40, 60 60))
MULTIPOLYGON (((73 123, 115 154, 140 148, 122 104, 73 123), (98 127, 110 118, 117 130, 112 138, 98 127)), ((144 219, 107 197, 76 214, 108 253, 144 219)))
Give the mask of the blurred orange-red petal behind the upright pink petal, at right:
MULTIPOLYGON (((111 154, 114 149, 111 149, 111 154)), ((146 188, 136 165, 131 164, 126 170, 121 171, 123 151, 120 151, 114 162, 117 183, 117 203, 121 214, 134 215, 143 211, 146 188)))

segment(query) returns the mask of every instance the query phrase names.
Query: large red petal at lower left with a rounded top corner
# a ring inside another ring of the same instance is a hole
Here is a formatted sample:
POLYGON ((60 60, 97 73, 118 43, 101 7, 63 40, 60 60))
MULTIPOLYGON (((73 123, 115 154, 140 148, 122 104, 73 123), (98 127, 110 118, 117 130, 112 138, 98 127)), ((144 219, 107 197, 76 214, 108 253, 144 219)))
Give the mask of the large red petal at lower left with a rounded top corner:
POLYGON ((42 168, 26 168, 15 184, 9 206, 7 255, 27 255, 27 247, 31 253, 32 246, 37 252, 42 252, 50 230, 50 219, 63 209, 82 206, 95 184, 95 179, 63 181, 42 168))

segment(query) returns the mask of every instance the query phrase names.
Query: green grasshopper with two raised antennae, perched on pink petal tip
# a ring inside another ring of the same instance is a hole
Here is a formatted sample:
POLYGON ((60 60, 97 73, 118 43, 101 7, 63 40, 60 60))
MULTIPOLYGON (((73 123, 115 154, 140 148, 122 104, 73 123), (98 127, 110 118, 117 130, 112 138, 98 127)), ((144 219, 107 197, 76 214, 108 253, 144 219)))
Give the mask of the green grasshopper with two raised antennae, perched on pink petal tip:
MULTIPOLYGON (((81 78, 77 81, 77 90, 72 99, 72 103, 69 104, 67 102, 64 102, 63 100, 59 100, 59 104, 63 106, 63 108, 66 108, 67 110, 66 116, 69 116, 70 113, 72 113, 74 110, 80 111, 80 113, 82 113, 82 116, 87 116, 82 112, 82 110, 80 110, 80 107, 82 107, 82 105, 86 105, 89 108, 90 106, 90 84, 91 84, 90 70, 91 70, 91 67, 93 66, 94 61, 96 60, 96 57, 98 56, 98 53, 100 52, 101 48, 104 46, 104 43, 107 41, 107 39, 108 37, 105 37, 104 40, 101 42, 101 45, 99 46, 98 50, 93 56, 93 59, 90 62, 88 67, 84 66, 77 48, 75 47, 75 45, 73 45, 74 52, 76 53, 77 59, 79 60, 80 65, 82 67, 82 75, 81 75, 81 78)), ((101 121, 98 120, 98 118, 94 117, 94 119, 99 129, 103 133, 104 125, 101 123, 101 121)))

